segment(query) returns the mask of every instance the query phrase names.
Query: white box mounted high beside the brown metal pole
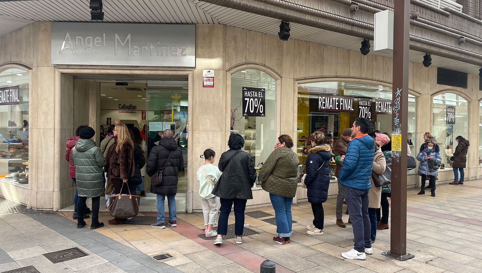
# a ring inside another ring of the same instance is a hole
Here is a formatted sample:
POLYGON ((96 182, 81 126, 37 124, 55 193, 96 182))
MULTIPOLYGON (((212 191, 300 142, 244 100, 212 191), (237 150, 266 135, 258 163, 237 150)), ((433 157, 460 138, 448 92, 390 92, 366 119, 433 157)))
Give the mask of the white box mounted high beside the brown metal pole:
POLYGON ((393 52, 393 12, 386 10, 375 13, 374 50, 393 52))

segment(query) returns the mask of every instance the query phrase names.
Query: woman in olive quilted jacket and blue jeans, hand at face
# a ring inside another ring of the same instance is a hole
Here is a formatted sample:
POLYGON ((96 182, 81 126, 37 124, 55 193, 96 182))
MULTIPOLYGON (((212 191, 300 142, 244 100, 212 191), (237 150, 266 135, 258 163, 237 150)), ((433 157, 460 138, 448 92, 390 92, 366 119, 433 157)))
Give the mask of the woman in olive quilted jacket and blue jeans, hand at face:
POLYGON ((281 135, 274 146, 275 150, 269 155, 259 171, 258 179, 261 186, 269 192, 269 199, 276 217, 276 233, 273 241, 284 245, 290 243, 291 203, 298 185, 297 169, 298 155, 292 150, 293 139, 288 135, 281 135))

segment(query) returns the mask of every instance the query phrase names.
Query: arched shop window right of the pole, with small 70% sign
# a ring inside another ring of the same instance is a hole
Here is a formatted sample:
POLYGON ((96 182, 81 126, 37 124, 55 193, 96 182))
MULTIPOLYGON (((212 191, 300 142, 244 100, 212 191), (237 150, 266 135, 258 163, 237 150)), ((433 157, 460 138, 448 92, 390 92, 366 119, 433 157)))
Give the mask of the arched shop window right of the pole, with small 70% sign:
MULTIPOLYGON (((457 142, 455 137, 469 135, 468 103, 464 98, 444 93, 433 98, 432 135, 437 139, 442 163, 450 167, 450 157, 454 154, 457 142)), ((469 160, 468 160, 469 161, 469 160)))

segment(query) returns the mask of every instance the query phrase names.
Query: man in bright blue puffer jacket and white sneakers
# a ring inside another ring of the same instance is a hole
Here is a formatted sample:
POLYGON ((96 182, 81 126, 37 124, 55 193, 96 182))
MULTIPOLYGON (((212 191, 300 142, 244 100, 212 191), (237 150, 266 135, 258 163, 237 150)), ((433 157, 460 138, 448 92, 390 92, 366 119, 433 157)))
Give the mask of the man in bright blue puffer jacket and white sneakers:
POLYGON ((354 247, 341 253, 341 256, 351 260, 366 260, 366 254, 373 254, 370 243, 370 217, 368 216, 368 189, 372 186, 372 174, 375 144, 373 138, 367 135, 370 121, 358 117, 353 123, 351 142, 341 166, 340 184, 345 187, 350 220, 355 237, 354 247), (365 254, 366 253, 366 254, 365 254))

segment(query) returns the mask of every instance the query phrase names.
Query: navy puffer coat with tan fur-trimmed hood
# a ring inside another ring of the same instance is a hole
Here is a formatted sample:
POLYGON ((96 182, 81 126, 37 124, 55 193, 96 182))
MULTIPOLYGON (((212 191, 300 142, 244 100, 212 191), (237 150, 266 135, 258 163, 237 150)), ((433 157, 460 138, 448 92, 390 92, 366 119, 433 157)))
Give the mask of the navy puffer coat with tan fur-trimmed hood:
POLYGON ((309 149, 308 152, 305 177, 305 185, 308 190, 308 202, 321 204, 326 202, 328 198, 331 147, 329 145, 319 144, 309 149), (320 168, 321 165, 322 167, 320 168))

